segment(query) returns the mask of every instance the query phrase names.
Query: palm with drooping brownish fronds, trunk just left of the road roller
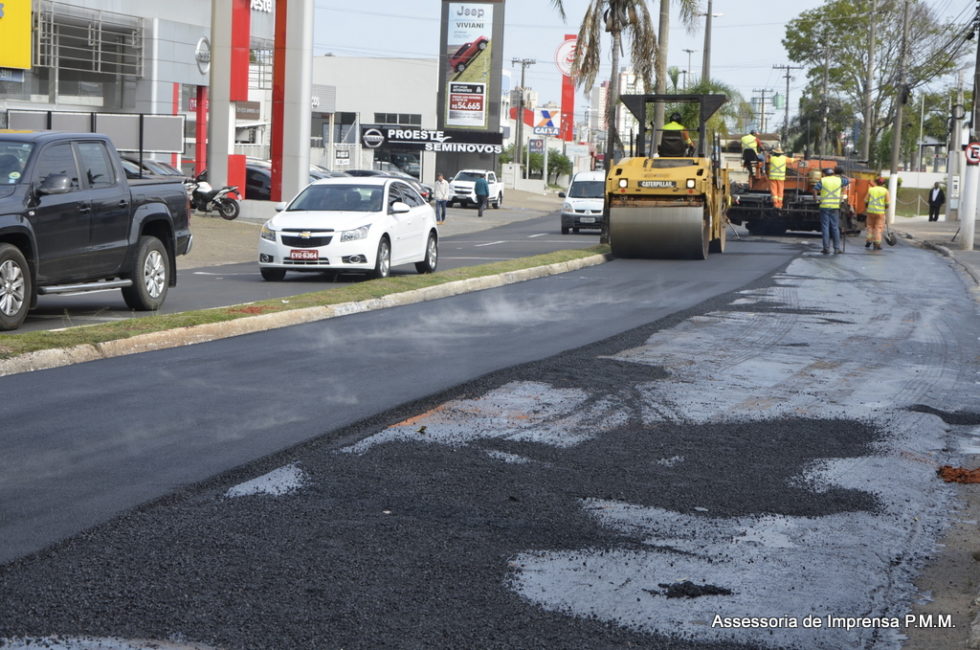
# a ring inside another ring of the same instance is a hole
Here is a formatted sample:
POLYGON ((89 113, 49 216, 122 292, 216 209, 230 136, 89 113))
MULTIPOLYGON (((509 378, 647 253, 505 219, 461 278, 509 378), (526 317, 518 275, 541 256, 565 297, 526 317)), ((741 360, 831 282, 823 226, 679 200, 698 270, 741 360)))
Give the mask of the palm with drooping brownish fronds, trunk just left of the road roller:
MULTIPOLYGON (((694 0, 691 0, 694 1, 694 0)), ((551 4, 564 18, 562 0, 551 4)), ((623 50, 623 34, 630 39, 630 60, 633 72, 649 88, 652 85, 653 67, 657 57, 657 34, 653 29, 646 0, 589 0, 578 33, 572 76, 579 87, 591 89, 599 74, 601 60, 600 41, 602 32, 612 35, 612 73, 609 92, 606 95, 606 156, 608 170, 619 141, 616 133, 616 105, 619 103, 619 54, 623 50)))

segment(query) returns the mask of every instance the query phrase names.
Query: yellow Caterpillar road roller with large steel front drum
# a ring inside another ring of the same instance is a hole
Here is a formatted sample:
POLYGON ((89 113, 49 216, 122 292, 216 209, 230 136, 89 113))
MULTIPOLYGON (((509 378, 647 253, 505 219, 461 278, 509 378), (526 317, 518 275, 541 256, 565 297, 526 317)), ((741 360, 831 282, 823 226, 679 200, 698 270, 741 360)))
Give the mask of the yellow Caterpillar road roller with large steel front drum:
POLYGON ((623 103, 641 124, 636 142, 641 152, 647 153, 647 129, 642 125, 648 104, 697 103, 700 120, 697 141, 686 130, 665 130, 656 154, 624 158, 609 169, 605 209, 613 255, 703 260, 709 251, 725 251, 725 212, 731 203, 728 170, 722 168, 720 148, 705 125, 727 99, 623 95, 623 103))

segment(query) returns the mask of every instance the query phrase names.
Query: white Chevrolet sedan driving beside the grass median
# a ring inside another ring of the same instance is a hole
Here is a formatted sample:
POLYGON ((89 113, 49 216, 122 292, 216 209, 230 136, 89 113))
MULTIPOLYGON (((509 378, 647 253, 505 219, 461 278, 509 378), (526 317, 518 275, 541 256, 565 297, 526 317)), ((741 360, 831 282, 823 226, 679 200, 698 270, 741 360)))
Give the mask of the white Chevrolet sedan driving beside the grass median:
POLYGON ((324 178, 308 185, 262 226, 259 269, 266 280, 286 271, 436 270, 435 212, 410 185, 378 176, 324 178))

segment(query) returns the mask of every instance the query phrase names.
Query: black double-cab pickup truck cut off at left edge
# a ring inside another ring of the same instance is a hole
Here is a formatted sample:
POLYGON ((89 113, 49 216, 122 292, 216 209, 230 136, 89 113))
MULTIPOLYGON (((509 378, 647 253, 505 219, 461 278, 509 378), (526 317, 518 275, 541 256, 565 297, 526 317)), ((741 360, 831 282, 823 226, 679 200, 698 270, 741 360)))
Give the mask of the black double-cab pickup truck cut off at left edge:
POLYGON ((0 129, 0 330, 49 293, 119 288, 131 309, 159 309, 189 218, 179 180, 127 181, 104 135, 0 129))

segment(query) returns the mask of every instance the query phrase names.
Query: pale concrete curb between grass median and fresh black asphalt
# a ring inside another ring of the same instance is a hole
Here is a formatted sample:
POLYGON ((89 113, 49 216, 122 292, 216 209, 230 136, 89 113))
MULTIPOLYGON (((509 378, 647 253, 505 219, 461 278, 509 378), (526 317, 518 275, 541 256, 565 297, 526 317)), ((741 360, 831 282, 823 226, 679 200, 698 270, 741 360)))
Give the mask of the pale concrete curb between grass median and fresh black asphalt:
POLYGON ((607 255, 590 255, 589 257, 570 260, 568 262, 535 266, 529 269, 509 271, 498 275, 457 280, 434 287, 403 291, 382 298, 347 302, 339 305, 306 307, 274 314, 261 314, 223 323, 207 323, 204 325, 193 325, 191 327, 180 327, 173 330, 140 334, 127 339, 106 341, 105 343, 94 345, 86 344, 65 349, 39 350, 0 361, 0 377, 21 372, 32 372, 34 370, 60 368, 86 361, 111 359, 127 354, 139 354, 140 352, 152 352, 153 350, 165 350, 168 348, 193 345, 195 343, 206 343, 208 341, 242 336, 243 334, 254 334, 280 327, 289 327, 290 325, 312 323, 327 318, 337 318, 349 314, 387 309, 388 307, 399 307, 428 300, 438 300, 439 298, 448 298, 463 293, 482 291, 484 289, 495 289, 517 282, 576 271, 589 266, 602 264, 608 260, 609 256, 607 255))

